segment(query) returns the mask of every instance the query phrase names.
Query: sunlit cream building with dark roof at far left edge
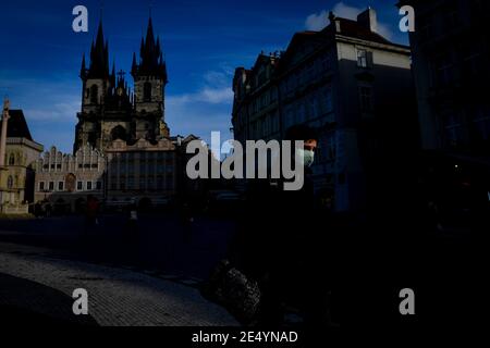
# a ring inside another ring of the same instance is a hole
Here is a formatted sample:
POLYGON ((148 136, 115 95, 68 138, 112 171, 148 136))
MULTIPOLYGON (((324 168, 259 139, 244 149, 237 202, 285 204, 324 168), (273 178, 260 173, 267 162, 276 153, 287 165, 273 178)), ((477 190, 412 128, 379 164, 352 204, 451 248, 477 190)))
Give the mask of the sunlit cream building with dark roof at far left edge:
POLYGON ((10 110, 5 101, 0 137, 0 213, 28 213, 34 202, 32 164, 44 150, 34 141, 22 110, 10 110))

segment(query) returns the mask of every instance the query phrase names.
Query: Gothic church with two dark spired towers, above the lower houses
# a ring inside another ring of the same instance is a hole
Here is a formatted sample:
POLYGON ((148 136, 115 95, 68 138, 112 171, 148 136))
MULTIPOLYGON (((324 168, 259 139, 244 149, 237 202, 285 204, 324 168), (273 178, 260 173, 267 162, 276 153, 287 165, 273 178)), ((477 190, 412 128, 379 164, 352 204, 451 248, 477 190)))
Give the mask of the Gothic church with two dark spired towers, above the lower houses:
POLYGON ((146 38, 142 38, 139 59, 133 53, 134 92, 124 72, 117 73, 114 64, 109 72, 109 46, 100 22, 88 69, 85 54, 82 61, 82 112, 77 114, 74 153, 87 145, 103 151, 119 139, 131 146, 139 139, 156 144, 170 137, 164 121, 167 65, 151 17, 146 38))

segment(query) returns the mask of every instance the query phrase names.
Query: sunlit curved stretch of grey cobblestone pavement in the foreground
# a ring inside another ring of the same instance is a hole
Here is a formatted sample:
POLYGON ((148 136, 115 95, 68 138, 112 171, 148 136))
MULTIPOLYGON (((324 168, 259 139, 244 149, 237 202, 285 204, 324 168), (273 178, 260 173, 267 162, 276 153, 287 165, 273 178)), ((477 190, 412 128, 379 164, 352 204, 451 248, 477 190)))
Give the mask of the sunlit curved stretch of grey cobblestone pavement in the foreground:
POLYGON ((2 246, 0 273, 36 282, 70 297, 74 289, 85 288, 89 314, 99 325, 238 325, 231 314, 205 300, 192 286, 130 270, 52 259, 44 257, 42 250, 29 250, 2 246))

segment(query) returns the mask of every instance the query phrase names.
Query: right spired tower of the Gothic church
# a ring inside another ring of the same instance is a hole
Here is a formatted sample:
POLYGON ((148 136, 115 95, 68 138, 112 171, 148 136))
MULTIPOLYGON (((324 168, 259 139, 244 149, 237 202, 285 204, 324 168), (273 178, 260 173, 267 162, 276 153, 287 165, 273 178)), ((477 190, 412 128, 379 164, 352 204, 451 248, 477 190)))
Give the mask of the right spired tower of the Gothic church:
POLYGON ((164 89, 168 83, 167 65, 160 46, 155 38, 151 16, 148 21, 146 38, 142 38, 139 61, 133 53, 131 74, 134 78, 135 137, 156 139, 169 137, 164 119, 164 89))

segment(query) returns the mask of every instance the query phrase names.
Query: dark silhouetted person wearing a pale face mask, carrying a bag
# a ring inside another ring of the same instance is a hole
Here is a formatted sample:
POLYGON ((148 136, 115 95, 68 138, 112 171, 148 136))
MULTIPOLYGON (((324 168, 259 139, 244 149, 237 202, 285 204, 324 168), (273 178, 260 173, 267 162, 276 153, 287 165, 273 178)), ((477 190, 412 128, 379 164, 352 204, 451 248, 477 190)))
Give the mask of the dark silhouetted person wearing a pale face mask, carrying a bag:
POLYGON ((289 129, 286 140, 305 141, 296 165, 305 167, 305 183, 284 190, 284 179, 249 184, 247 204, 233 247, 233 262, 259 282, 261 303, 257 325, 284 324, 283 303, 302 310, 305 324, 326 327, 329 322, 327 256, 328 221, 317 212, 310 166, 317 148, 316 132, 306 126, 289 129), (319 228, 321 226, 321 228, 319 228))

